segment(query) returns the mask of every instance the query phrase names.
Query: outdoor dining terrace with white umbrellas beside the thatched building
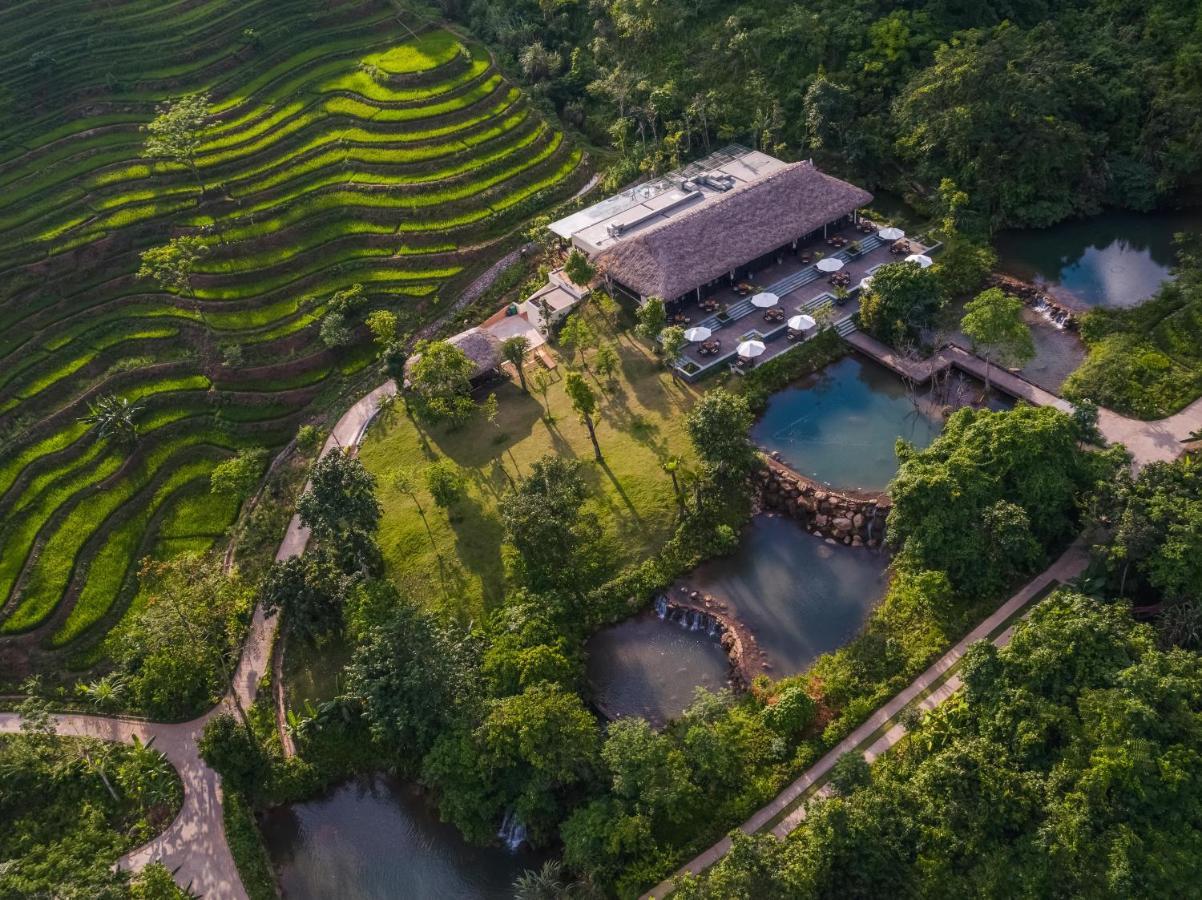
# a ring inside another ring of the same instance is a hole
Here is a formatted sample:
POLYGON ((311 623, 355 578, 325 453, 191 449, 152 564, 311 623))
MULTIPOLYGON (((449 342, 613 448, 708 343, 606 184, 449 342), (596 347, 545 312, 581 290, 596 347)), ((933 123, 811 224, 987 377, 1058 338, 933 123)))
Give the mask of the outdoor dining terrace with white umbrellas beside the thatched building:
MULTIPOLYGON (((751 360, 744 368, 762 365, 780 356, 790 347, 803 342, 803 338, 789 339, 787 320, 797 314, 813 315, 827 303, 835 310, 834 327, 840 334, 853 329, 851 317, 859 309, 859 281, 887 262, 898 262, 905 254, 892 251, 894 242, 880 238, 875 230, 861 232, 849 225, 828 238, 817 238, 790 250, 779 263, 773 263, 749 275, 736 285, 725 286, 703 293, 701 300, 683 300, 668 306, 668 323, 684 327, 703 326, 713 332, 710 341, 719 341, 719 352, 707 354, 701 352, 701 344, 689 344, 680 353, 676 370, 688 381, 701 377, 722 368, 731 366, 737 358, 736 347, 744 340, 761 340, 764 344, 762 356, 751 360), (844 246, 837 248, 831 239, 844 240, 844 246), (851 245, 858 243, 859 252, 853 254, 851 245), (844 275, 847 296, 840 303, 835 296, 835 279, 817 269, 819 254, 823 257, 835 257, 844 267, 838 273, 844 275), (808 260, 808 262, 807 262, 808 260), (743 286, 739 290, 739 286, 743 286), (750 290, 746 290, 750 288, 750 290), (784 311, 780 321, 772 321, 769 310, 752 305, 751 297, 758 292, 774 293, 780 298, 776 309, 784 311), (706 309, 716 302, 718 311, 706 309)), ((930 252, 934 248, 914 238, 906 238, 910 252, 930 252)), ((814 332, 808 336, 813 336, 814 332)))

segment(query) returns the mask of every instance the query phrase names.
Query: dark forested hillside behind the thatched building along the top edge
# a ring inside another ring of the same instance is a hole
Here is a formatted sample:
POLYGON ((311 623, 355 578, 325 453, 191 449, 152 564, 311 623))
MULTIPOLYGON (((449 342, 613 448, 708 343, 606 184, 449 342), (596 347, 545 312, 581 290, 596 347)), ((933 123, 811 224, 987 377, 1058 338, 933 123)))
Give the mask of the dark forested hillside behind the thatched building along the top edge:
MULTIPOLYGON (((1196 0, 439 0, 626 165, 738 139, 977 222, 1196 202, 1196 0)), ((962 223, 963 225, 963 223, 962 223)))

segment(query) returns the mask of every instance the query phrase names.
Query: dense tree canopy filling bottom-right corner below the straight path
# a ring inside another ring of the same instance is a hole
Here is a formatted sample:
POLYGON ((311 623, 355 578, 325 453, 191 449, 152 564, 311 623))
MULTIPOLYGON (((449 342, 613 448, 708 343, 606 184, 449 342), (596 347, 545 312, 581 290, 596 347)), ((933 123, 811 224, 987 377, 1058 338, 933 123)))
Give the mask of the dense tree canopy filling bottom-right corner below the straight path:
POLYGON ((962 697, 684 898, 1168 896, 1198 877, 1197 657, 1064 591, 975 645, 962 697))

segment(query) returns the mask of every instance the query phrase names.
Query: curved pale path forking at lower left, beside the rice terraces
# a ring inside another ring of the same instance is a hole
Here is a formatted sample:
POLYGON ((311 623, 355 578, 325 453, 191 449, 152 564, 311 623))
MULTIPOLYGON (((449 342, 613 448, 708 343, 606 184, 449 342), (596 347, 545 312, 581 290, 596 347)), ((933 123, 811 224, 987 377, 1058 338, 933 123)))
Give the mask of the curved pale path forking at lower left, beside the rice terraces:
MULTIPOLYGON (((322 447, 322 454, 334 447, 357 447, 380 409, 380 399, 394 393, 397 386, 388 381, 361 398, 334 425, 322 447)), ((293 515, 275 559, 298 556, 304 553, 308 542, 309 530, 302 528, 300 520, 293 515)), ((209 719, 220 711, 234 710, 236 695, 244 707, 255 702, 258 685, 272 664, 274 637, 275 620, 268 619, 262 607, 256 607, 230 693, 216 707, 190 722, 147 722, 71 714, 54 716, 60 734, 123 743, 132 743, 136 735, 143 743, 153 744, 171 761, 184 782, 184 803, 179 815, 161 835, 121 857, 118 860, 120 868, 137 871, 149 863, 160 862, 174 874, 180 886, 191 888, 202 898, 246 899, 238 868, 225 839, 221 777, 204 764, 196 745, 209 719)), ((0 732, 12 733, 19 728, 20 717, 17 714, 0 713, 0 732)))

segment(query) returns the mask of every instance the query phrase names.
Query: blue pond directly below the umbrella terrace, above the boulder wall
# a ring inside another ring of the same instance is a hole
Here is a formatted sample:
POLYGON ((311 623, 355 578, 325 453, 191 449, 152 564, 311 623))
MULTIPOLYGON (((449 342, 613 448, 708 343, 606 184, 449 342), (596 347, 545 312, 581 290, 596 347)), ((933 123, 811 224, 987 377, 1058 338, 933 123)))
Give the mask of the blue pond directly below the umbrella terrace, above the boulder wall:
POLYGON ((852 354, 774 394, 751 441, 823 484, 883 490, 897 472, 897 439, 922 448, 942 427, 938 407, 915 403, 897 375, 852 354))

